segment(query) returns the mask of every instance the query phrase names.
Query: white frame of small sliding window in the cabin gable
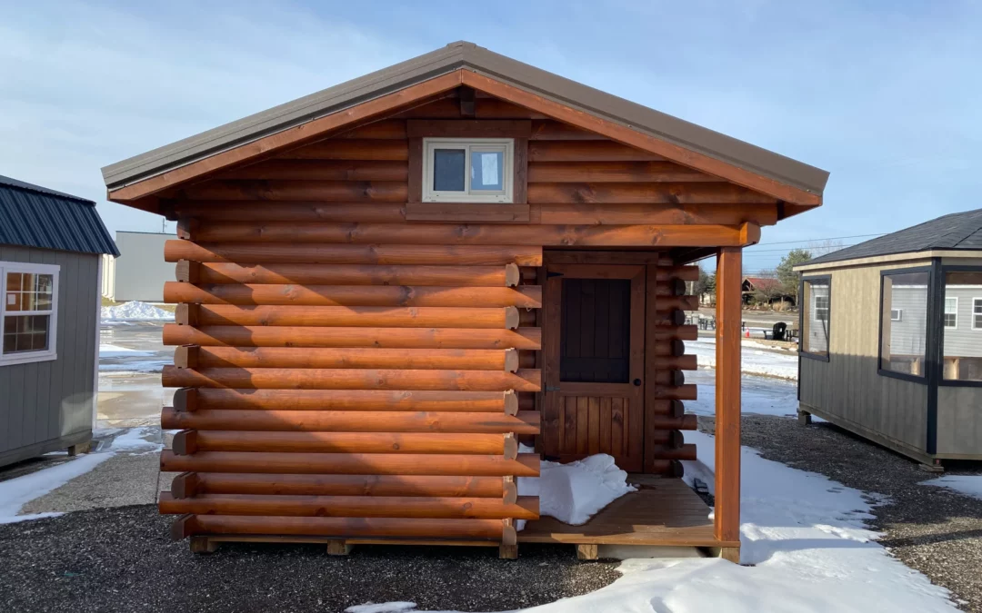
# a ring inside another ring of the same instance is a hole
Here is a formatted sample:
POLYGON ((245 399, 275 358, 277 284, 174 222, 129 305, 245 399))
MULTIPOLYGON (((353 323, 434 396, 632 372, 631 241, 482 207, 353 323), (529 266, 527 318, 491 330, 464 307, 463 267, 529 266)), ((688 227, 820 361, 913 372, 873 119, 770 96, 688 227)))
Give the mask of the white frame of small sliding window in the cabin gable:
POLYGON ((423 138, 423 202, 496 202, 515 201, 515 139, 514 138, 423 138), (472 147, 504 147, 502 155, 502 191, 493 193, 469 193, 470 150, 472 147), (464 191, 436 191, 433 189, 433 156, 436 149, 464 149, 464 191))

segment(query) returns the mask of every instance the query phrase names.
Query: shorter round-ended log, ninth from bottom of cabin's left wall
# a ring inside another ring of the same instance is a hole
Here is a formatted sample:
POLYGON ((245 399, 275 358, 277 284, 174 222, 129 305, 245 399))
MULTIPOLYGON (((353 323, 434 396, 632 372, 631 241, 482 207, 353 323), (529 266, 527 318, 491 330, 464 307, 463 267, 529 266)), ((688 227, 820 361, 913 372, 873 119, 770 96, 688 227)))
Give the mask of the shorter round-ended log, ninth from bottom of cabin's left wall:
MULTIPOLYGON (((184 347, 178 347, 179 352, 181 349, 184 347)), ((190 366, 505 371, 510 351, 514 353, 515 349, 198 347, 190 366)), ((513 360, 517 359, 516 355, 513 360)))

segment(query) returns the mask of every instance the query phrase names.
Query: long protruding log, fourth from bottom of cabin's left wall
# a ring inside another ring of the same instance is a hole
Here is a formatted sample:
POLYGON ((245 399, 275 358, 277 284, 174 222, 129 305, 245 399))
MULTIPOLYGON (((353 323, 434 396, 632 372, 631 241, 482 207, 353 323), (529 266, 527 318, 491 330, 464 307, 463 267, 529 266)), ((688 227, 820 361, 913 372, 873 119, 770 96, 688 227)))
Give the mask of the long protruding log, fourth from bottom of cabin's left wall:
POLYGON ((539 456, 406 453, 160 452, 160 470, 169 473, 260 473, 265 475, 439 475, 448 477, 538 477, 539 456))

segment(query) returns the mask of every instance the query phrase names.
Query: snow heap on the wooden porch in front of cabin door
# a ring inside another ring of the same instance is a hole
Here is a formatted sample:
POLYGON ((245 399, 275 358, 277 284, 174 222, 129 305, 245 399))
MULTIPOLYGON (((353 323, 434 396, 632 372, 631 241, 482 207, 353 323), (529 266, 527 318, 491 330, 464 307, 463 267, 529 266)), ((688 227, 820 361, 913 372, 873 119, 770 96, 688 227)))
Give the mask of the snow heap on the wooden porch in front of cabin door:
POLYGON ((585 524, 602 508, 634 490, 627 485, 627 473, 606 453, 569 464, 543 461, 538 477, 518 478, 518 495, 538 496, 540 515, 571 526, 585 524))

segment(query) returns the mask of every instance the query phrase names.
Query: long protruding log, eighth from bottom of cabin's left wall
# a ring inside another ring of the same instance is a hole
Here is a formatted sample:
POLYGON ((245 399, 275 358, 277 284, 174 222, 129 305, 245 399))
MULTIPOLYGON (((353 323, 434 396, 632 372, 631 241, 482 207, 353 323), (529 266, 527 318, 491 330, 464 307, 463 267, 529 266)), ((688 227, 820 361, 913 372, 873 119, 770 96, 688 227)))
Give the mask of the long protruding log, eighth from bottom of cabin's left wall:
POLYGON ((403 369, 204 368, 164 366, 165 387, 236 389, 445 389, 538 391, 541 372, 519 370, 432 371, 403 369))

